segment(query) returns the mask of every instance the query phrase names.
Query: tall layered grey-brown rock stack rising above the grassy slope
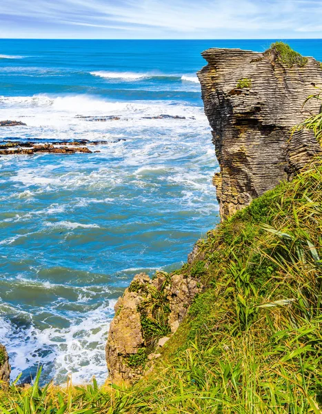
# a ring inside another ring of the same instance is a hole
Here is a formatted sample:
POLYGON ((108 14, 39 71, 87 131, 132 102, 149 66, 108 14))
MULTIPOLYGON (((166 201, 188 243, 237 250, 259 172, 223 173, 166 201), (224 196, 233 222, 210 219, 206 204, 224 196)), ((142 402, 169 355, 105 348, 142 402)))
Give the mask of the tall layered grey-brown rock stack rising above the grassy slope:
POLYGON ((205 114, 220 172, 214 176, 221 217, 250 204, 266 190, 292 176, 321 153, 313 132, 292 127, 318 113, 310 100, 322 85, 319 62, 309 57, 303 67, 285 68, 268 53, 209 49, 199 73, 205 114), (249 79, 249 88, 237 88, 249 79))

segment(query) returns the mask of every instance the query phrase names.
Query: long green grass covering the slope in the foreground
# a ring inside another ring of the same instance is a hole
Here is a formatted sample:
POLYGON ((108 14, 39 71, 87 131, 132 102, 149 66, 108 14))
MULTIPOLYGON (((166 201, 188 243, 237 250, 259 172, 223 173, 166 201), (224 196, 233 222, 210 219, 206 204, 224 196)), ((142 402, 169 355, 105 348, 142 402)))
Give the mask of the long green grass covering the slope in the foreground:
POLYGON ((206 286, 132 387, 10 386, 3 413, 321 413, 322 166, 199 242, 206 286))

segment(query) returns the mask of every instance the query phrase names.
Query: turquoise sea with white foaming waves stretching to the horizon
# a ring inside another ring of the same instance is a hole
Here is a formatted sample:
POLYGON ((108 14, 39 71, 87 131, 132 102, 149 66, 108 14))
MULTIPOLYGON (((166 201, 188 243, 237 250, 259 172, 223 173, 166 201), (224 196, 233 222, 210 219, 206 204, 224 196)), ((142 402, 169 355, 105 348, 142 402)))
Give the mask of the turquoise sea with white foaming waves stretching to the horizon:
MULTIPOLYGON (((106 142, 93 154, 0 158, 0 342, 12 379, 41 363, 45 380, 105 380, 117 297, 136 273, 179 267, 219 221, 200 53, 270 43, 0 40, 0 120, 27 124, 1 128, 1 140, 106 142)), ((321 40, 289 43, 322 60, 321 40)))

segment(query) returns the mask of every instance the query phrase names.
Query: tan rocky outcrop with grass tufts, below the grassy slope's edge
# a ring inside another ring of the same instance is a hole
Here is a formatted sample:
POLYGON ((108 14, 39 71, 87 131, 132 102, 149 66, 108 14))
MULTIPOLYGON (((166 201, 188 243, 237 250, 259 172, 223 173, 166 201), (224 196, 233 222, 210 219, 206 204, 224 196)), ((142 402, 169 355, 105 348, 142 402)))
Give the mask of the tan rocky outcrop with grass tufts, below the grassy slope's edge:
POLYGON ((158 273, 150 279, 136 275, 115 305, 106 344, 110 380, 136 382, 161 354, 201 291, 201 282, 189 275, 158 273))

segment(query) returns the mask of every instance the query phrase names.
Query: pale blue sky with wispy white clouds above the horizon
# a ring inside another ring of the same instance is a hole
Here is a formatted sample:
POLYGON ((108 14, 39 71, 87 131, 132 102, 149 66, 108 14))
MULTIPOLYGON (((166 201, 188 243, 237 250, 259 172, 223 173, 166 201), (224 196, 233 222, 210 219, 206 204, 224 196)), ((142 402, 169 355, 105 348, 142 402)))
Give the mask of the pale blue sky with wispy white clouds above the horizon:
POLYGON ((0 37, 322 37, 322 0, 1 0, 0 37))

